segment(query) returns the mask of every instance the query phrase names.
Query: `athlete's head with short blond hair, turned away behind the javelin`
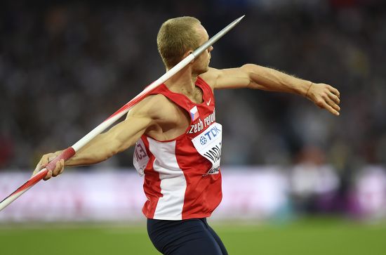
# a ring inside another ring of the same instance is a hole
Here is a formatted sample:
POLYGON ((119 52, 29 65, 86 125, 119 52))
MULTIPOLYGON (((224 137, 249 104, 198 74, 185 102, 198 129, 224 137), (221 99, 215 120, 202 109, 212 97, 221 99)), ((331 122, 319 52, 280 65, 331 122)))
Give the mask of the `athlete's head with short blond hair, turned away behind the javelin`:
MULTIPOLYGON (((157 46, 168 69, 177 65, 182 58, 208 40, 208 33, 197 18, 179 17, 166 20, 157 35, 157 46)), ((213 47, 194 60, 193 72, 208 71, 210 52, 213 47)))

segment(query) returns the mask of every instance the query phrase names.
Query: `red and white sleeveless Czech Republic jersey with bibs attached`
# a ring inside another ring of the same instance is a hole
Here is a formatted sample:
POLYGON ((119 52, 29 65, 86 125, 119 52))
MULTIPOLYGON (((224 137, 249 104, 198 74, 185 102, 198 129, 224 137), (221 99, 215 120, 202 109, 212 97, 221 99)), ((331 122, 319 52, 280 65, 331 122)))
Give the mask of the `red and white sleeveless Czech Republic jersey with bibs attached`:
POLYGON ((165 84, 153 94, 162 94, 191 117, 186 132, 173 140, 159 141, 143 135, 135 145, 134 166, 145 174, 147 197, 142 208, 147 218, 182 220, 211 216, 222 199, 220 155, 222 126, 215 122, 215 98, 200 77, 196 86, 204 102, 169 91, 165 84))

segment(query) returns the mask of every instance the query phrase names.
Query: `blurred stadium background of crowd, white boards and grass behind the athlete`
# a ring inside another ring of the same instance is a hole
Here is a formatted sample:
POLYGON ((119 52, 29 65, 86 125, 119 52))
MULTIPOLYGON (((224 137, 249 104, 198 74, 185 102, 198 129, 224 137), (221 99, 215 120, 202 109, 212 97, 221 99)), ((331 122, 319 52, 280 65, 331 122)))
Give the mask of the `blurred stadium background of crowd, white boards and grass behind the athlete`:
MULTIPOLYGON (((164 73, 162 22, 192 15, 213 35, 244 14, 211 66, 331 84, 342 111, 216 91, 224 197, 210 221, 229 254, 385 254, 382 0, 1 1, 0 198, 164 73)), ((67 168, 1 211, 1 254, 157 254, 132 156, 67 168)))

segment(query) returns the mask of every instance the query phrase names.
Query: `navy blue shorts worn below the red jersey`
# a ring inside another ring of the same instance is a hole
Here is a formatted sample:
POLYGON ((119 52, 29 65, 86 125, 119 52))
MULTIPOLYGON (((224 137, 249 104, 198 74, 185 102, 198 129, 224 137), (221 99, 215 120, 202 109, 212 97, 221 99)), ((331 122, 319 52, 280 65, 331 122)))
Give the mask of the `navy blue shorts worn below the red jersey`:
POLYGON ((147 233, 154 247, 167 255, 227 255, 220 237, 206 218, 182 221, 147 219, 147 233))

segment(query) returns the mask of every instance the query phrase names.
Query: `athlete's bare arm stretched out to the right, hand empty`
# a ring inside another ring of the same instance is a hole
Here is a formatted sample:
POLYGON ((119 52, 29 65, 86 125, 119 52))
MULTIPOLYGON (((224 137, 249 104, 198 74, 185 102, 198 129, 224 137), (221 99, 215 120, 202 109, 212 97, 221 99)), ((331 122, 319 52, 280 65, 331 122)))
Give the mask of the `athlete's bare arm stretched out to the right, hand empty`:
POLYGON ((339 115, 340 93, 333 86, 315 84, 271 68, 253 64, 223 70, 210 68, 208 72, 201 74, 201 77, 208 79, 213 89, 249 88, 295 93, 312 100, 315 105, 333 115, 339 115))

